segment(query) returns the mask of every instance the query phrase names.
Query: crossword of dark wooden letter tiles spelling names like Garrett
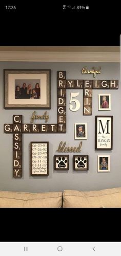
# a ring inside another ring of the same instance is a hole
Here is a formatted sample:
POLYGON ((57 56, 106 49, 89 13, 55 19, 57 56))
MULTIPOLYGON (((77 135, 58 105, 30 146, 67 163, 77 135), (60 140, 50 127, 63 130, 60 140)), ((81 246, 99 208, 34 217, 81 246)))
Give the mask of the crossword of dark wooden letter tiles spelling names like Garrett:
POLYGON ((13 124, 4 125, 5 133, 13 133, 13 177, 22 177, 23 133, 66 133, 66 89, 83 89, 83 114, 92 115, 92 90, 118 89, 118 80, 67 80, 66 71, 57 71, 57 123, 23 124, 22 115, 13 115, 13 124))

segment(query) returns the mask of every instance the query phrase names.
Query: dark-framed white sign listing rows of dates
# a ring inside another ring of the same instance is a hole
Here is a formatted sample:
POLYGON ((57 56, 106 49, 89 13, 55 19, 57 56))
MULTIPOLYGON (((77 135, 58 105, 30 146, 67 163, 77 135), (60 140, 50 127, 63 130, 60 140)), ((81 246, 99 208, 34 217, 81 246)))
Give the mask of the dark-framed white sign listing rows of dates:
POLYGON ((37 175, 48 176, 49 175, 49 142, 48 141, 40 141, 40 142, 31 141, 30 162, 31 162, 31 176, 37 176, 37 175), (39 148, 37 148, 35 144, 38 144, 39 148), (44 144, 46 144, 46 146, 44 144), (32 149, 32 145, 34 145, 33 149, 32 149), (47 152, 44 147, 47 148, 47 152), (46 169, 45 173, 42 171, 44 169, 46 169))

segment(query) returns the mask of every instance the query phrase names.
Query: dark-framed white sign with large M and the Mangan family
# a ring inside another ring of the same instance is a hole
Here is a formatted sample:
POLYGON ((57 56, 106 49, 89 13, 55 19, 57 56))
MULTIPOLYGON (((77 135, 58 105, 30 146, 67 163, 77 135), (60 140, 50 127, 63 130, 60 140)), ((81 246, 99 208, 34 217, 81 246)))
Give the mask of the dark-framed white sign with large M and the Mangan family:
POLYGON ((95 116, 95 150, 113 149, 113 116, 95 116))

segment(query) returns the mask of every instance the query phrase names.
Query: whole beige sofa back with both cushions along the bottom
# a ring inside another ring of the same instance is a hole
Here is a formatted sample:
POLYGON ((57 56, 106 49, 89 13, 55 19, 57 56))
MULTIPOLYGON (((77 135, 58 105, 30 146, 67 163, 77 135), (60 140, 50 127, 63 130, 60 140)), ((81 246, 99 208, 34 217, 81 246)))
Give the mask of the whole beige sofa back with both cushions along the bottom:
POLYGON ((120 208, 121 188, 23 193, 0 191, 0 208, 120 208))

